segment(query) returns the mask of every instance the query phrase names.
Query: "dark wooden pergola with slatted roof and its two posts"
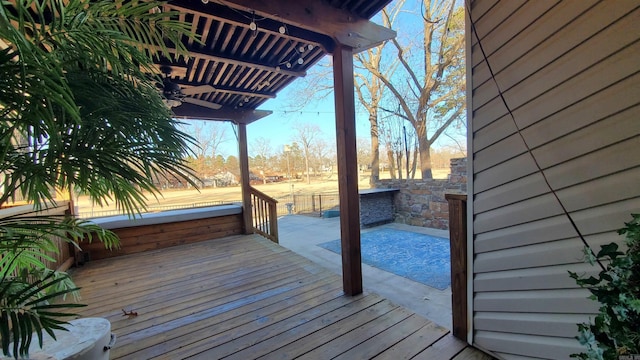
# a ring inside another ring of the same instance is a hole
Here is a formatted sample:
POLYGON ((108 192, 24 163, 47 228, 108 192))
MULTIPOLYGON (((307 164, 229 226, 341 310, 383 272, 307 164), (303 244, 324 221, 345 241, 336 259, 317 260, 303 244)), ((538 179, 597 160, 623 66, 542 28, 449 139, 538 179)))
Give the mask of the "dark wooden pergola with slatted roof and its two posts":
MULTIPOLYGON (((247 125, 270 111, 256 110, 325 55, 333 56, 344 292, 362 292, 360 218, 356 164, 353 54, 395 32, 371 22, 391 0, 172 0, 201 42, 186 41, 189 58, 163 59, 169 79, 206 93, 173 108, 179 118, 238 125, 243 217, 251 231, 247 125), (195 100, 195 101, 194 101, 195 100), (196 104, 194 104, 196 103, 196 104)), ((268 120, 265 120, 268 121, 268 120)))

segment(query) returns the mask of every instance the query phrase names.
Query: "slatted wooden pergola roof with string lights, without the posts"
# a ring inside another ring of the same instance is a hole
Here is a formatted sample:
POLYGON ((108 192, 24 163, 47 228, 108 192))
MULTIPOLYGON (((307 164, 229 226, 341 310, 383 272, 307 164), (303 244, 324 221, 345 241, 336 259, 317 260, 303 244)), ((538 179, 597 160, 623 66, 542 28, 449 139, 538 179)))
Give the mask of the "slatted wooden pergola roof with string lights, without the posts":
POLYGON ((268 115, 256 108, 305 76, 336 44, 360 51, 392 37, 392 31, 369 21, 389 2, 169 1, 163 11, 179 11, 201 42, 185 39, 189 57, 161 59, 159 65, 170 65, 171 82, 183 89, 213 86, 213 92, 189 96, 221 105, 213 110, 183 103, 174 113, 238 123, 268 115))

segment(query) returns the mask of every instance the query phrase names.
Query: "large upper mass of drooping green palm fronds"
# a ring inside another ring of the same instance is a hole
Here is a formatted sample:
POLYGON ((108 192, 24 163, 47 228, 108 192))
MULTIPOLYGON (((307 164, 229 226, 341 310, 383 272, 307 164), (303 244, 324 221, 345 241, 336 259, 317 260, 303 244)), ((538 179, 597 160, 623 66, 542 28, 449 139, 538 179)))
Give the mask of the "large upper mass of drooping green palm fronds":
POLYGON ((154 58, 185 55, 182 37, 195 39, 177 12, 152 11, 163 4, 18 0, 3 9, 2 20, 18 26, 0 31, 13 45, 0 63, 0 75, 4 65, 11 82, 4 87, 0 81, 0 92, 6 88, 16 99, 0 99, 0 108, 12 107, 0 126, 5 127, 0 139, 8 149, 0 157, 0 172, 6 174, 9 190, 0 204, 14 189, 35 203, 54 201, 50 185, 55 184, 88 193, 97 202, 114 201, 135 214, 145 209, 144 191, 158 196, 153 178, 167 174, 197 185, 180 160, 193 139, 176 129, 156 79, 145 72, 154 58), (177 52, 170 53, 167 44, 177 52), (23 56, 22 49, 31 51, 27 54, 33 59, 9 60, 23 56), (30 69, 23 66, 26 60, 52 63, 55 71, 41 78, 29 75, 24 72, 30 69), (38 87, 30 79, 49 87, 38 87), (73 108, 49 96, 59 87, 71 95, 73 108), (48 120, 40 120, 45 115, 48 120), (24 139, 29 143, 16 146, 24 139), (87 160, 89 166, 83 163, 87 160))

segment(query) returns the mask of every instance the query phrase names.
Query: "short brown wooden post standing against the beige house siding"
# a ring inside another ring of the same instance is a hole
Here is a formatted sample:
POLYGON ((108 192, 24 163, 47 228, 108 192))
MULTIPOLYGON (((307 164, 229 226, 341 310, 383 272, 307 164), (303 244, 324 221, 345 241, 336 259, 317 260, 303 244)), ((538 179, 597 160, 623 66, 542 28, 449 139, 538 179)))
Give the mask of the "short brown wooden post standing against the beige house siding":
POLYGON ((453 336, 467 341, 467 195, 445 194, 451 242, 451 314, 453 336))

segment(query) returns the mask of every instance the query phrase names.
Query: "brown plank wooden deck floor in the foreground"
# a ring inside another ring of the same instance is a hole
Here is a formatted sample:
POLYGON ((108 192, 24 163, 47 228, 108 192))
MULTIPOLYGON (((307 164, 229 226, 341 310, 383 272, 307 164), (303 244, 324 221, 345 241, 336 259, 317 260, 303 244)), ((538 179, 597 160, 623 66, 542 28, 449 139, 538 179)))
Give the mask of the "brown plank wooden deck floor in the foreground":
POLYGON ((112 359, 490 359, 378 295, 259 236, 89 262, 83 316, 105 317, 112 359), (123 316, 123 309, 137 316, 123 316))

